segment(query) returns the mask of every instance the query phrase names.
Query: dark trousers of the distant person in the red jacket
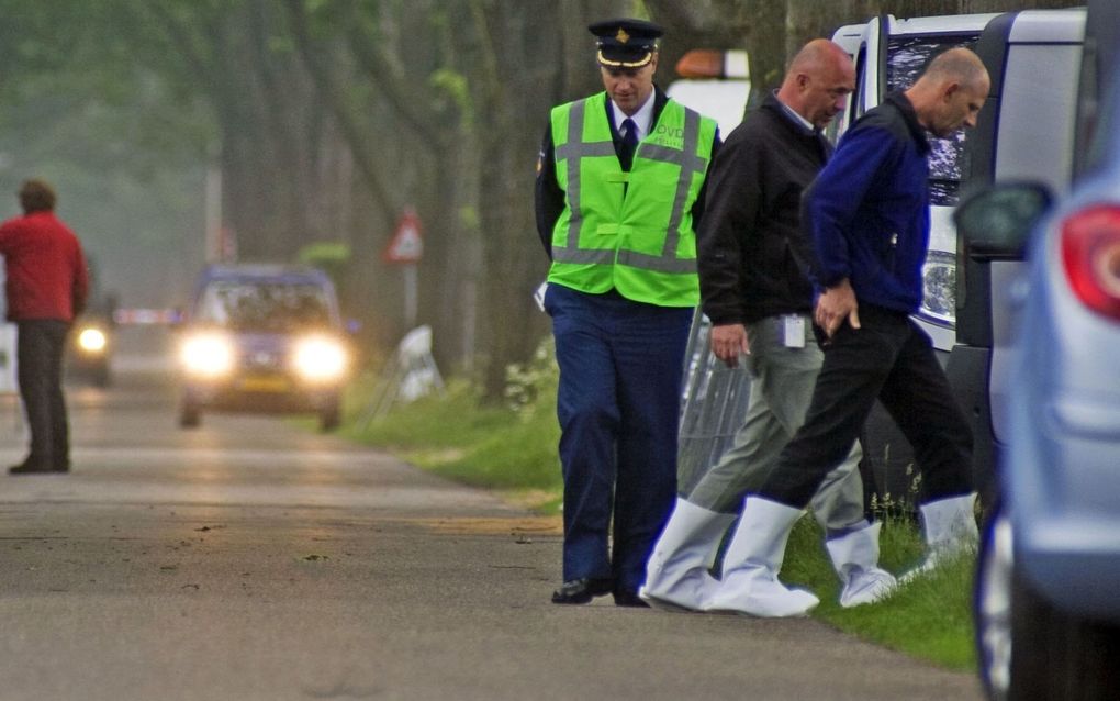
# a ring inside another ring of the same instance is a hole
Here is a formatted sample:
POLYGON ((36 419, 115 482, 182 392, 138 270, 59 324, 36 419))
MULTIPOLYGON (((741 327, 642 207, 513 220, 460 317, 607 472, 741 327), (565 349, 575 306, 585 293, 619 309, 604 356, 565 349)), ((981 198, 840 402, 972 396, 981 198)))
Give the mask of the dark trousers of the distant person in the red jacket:
POLYGON ((54 319, 18 322, 19 395, 31 428, 28 464, 69 468, 69 427, 63 399, 63 351, 69 324, 54 319))

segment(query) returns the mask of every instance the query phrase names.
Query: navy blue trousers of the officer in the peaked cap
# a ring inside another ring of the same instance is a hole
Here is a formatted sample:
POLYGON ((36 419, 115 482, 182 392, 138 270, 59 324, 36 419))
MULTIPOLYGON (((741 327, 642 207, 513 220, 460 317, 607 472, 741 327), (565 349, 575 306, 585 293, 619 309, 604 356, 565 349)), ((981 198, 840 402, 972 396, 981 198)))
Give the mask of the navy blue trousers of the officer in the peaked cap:
POLYGON ((563 579, 613 578, 616 589, 636 591, 676 498, 692 310, 559 285, 544 305, 560 366, 563 579))

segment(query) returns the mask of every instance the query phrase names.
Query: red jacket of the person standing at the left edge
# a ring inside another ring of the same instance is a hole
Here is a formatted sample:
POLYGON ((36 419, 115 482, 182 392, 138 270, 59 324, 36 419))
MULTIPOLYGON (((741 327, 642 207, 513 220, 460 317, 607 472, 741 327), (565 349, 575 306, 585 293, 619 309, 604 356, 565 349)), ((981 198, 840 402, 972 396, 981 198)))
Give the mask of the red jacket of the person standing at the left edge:
POLYGON ((73 321, 85 308, 90 277, 77 237, 54 212, 31 212, 0 224, 8 320, 73 321))

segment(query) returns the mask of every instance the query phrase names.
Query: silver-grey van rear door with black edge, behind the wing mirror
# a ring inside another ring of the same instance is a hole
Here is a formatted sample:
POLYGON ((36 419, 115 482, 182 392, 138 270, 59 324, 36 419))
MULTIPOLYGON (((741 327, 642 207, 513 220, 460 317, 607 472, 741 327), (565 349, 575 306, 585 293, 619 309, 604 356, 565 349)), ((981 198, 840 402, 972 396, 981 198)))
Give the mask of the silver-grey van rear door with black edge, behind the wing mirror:
MULTIPOLYGON (((1084 9, 1012 12, 988 24, 977 52, 992 86, 976 129, 971 183, 1034 181, 1054 193, 1068 188, 1084 34, 1084 9)), ((959 397, 971 415, 984 416, 984 400, 991 407, 990 426, 973 426, 980 452, 984 441, 998 445, 1007 434, 1010 336, 1018 325, 1014 296, 1023 264, 974 256, 967 240, 961 246, 958 367, 950 368, 950 379, 971 390, 959 397), (965 361, 970 356, 974 358, 965 361), (967 366, 978 367, 971 377, 961 377, 967 366), (987 397, 970 397, 984 387, 987 397)))

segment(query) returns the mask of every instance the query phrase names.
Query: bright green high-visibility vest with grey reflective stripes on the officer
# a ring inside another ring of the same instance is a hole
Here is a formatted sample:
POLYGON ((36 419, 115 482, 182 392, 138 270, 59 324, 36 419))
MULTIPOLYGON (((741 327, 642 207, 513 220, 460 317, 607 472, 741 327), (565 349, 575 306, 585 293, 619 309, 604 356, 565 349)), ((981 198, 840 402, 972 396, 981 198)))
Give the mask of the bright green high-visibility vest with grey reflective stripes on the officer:
POLYGON ((636 302, 700 301, 692 205, 711 160, 716 121, 670 100, 624 173, 605 92, 552 110, 564 209, 552 230, 549 282, 636 302))

